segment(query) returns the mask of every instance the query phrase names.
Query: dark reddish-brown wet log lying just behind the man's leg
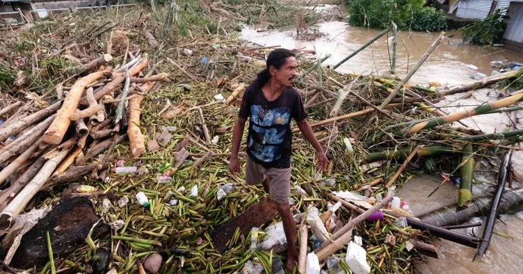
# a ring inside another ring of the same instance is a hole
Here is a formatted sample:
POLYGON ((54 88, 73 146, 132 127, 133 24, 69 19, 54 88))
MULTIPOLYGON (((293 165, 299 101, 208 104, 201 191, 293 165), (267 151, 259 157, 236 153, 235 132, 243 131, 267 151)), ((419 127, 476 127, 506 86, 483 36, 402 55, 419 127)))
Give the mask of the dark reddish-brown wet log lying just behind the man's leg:
POLYGON ((232 239, 237 228, 239 228, 241 234, 246 236, 251 228, 264 225, 264 223, 271 221, 276 215, 275 201, 271 196, 266 196, 258 203, 251 205, 245 212, 211 232, 214 248, 218 252, 225 252, 228 249, 227 242, 232 239))

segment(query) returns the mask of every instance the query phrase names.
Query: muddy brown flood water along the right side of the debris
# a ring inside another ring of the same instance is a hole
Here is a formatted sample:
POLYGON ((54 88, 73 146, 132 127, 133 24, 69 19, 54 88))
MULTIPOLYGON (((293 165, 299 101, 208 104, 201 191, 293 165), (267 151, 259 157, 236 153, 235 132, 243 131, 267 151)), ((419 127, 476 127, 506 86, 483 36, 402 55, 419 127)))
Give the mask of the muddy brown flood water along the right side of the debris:
MULTIPOLYGON (((321 57, 331 54, 330 58, 323 62, 323 65, 335 65, 380 33, 379 30, 348 26, 344 22, 324 22, 319 24, 318 30, 321 33, 325 33, 325 36, 319 37, 314 41, 296 40, 294 38, 295 33, 291 30, 257 32, 254 29, 246 28, 243 29, 241 34, 244 39, 264 46, 279 45, 287 49, 305 47, 314 49, 317 55, 321 57)), ((477 72, 487 76, 490 75, 492 71, 491 61, 509 59, 523 62, 522 52, 504 48, 492 48, 490 46, 463 44, 460 33, 456 31, 449 31, 446 35, 453 36, 446 38, 437 46, 424 65, 411 78, 410 82, 419 85, 427 85, 431 82, 437 82, 443 86, 459 85, 472 81, 470 76, 477 72)), ((437 36, 438 33, 399 32, 396 74, 399 77, 405 76, 408 69, 414 67, 417 60, 421 58, 421 55, 431 46, 437 36)), ((392 39, 386 35, 381 37, 367 49, 345 62, 337 70, 357 74, 386 74, 390 69, 387 38, 389 38, 389 42, 392 42, 392 39)), ((392 49, 392 46, 390 49, 392 49)), ((437 105, 442 107, 441 110, 443 112, 450 113, 463 108, 470 108, 470 105, 481 105, 481 103, 495 101, 499 99, 497 95, 495 90, 483 89, 474 92, 474 96, 469 99, 460 99, 462 94, 447 96, 437 105)), ((485 133, 490 133, 513 130, 514 126, 522 128, 523 119, 521 118, 523 118, 523 112, 510 115, 488 114, 465 119, 463 123, 469 128, 476 128, 483 130, 485 133)), ((454 123, 453 126, 460 125, 454 123)), ((514 153, 513 167, 517 178, 523 181, 523 152, 514 153)), ((478 173, 476 173, 476 180, 482 182, 476 189, 485 188, 485 186, 495 183, 494 178, 491 176, 483 176, 478 173)), ((430 205, 431 209, 437 209, 456 203, 454 199, 457 197, 458 190, 451 186, 446 187, 446 190, 440 190, 442 193, 439 196, 433 196, 431 199, 426 198, 426 195, 419 195, 420 191, 433 189, 433 186, 438 185, 439 182, 441 182, 440 178, 431 176, 415 177, 408 184, 405 184, 400 196, 409 201, 413 211, 415 208, 426 210, 428 205, 430 205), (427 183, 432 183, 433 186, 427 187, 423 185, 427 183), (451 197, 450 200, 449 197, 451 197)), ((475 195, 479 194, 475 193, 475 195)), ((487 254, 476 258, 474 262, 472 262, 472 257, 474 257, 476 250, 442 240, 434 243, 439 248, 440 259, 426 259, 424 263, 417 266, 416 271, 419 273, 456 274, 523 273, 522 215, 503 215, 501 219, 506 225, 498 221, 494 231, 506 236, 494 234, 487 254)), ((459 232, 467 233, 466 230, 459 232)))

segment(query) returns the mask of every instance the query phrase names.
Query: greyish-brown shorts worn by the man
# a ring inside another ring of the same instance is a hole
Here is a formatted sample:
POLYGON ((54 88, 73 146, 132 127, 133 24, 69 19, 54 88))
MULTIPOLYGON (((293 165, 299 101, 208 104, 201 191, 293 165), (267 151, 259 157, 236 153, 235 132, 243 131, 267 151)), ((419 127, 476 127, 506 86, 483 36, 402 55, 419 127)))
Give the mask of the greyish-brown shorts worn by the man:
POLYGON ((276 203, 289 203, 291 194, 291 168, 265 169, 261 164, 247 157, 246 182, 248 185, 258 185, 268 178, 268 188, 276 203))

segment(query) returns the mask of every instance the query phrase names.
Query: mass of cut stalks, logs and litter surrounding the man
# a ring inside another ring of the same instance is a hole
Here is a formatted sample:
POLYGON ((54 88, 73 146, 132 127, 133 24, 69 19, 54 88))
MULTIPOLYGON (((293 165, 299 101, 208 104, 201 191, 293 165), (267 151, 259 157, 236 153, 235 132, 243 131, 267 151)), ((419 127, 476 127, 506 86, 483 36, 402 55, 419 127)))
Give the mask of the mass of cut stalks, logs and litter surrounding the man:
MULTIPOLYGON (((3 71, 16 75, 1 87, 0 118, 6 120, 0 125, 0 182, 8 184, 0 192, 0 258, 7 267, 40 273, 272 273, 283 243, 251 249, 254 235, 238 227, 218 248, 213 232, 266 197, 244 184, 243 174, 232 177, 227 159, 242 92, 277 46, 243 42, 231 17, 246 18, 213 5, 198 11, 220 22, 212 32, 203 24, 182 35, 172 28, 179 7, 171 4, 151 15, 109 10, 35 22, 2 46, 3 71), (42 40, 28 44, 29 35, 42 40), (34 54, 28 59, 25 51, 34 54), (81 241, 54 244, 63 232, 40 225, 56 216, 49 207, 76 210, 77 203, 86 210, 85 197, 94 211, 84 215, 92 218, 84 218, 88 228, 83 223, 81 241), (40 246, 28 243, 34 235, 42 235, 40 246)), ((330 159, 327 172, 316 171, 309 144, 295 134, 291 200, 300 230, 298 268, 314 250, 325 268, 348 271, 346 244, 356 229, 369 271, 410 272, 411 260, 433 247, 424 243, 429 238, 423 229, 402 222, 409 212, 389 205, 393 187, 419 166, 450 169, 451 175, 461 168, 459 202, 467 205, 474 161, 494 148, 510 149, 523 134, 483 135, 450 126, 474 115, 519 110, 508 107, 523 100, 523 91, 450 114, 434 104, 440 96, 520 77, 518 72, 438 91, 410 85, 409 77, 339 74, 321 66, 325 58, 296 53, 296 87, 330 159), (338 203, 335 209, 331 202, 338 203), (379 209, 380 218, 366 221, 379 209), (317 220, 318 230, 307 233, 317 220)), ((270 229, 260 233, 259 245, 277 226, 270 202, 267 208, 259 230, 270 229)))

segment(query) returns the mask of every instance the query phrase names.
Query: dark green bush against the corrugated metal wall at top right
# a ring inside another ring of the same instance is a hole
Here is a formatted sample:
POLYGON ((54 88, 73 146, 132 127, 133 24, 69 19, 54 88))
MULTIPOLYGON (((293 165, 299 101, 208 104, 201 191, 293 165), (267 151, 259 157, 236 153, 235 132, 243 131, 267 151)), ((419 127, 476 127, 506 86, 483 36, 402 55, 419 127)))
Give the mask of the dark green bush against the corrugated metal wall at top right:
POLYGON ((479 45, 499 42, 505 32, 502 17, 501 10, 495 10, 485 20, 460 28, 463 41, 479 45))

